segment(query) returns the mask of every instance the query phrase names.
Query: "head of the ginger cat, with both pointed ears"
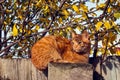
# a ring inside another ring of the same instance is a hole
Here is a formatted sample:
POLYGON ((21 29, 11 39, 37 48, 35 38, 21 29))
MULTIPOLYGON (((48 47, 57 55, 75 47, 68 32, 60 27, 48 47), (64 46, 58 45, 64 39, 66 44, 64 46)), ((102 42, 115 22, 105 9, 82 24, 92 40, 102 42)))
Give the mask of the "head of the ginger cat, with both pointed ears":
POLYGON ((86 53, 90 49, 90 39, 89 33, 87 31, 83 31, 82 34, 76 34, 72 32, 72 49, 77 53, 86 53))

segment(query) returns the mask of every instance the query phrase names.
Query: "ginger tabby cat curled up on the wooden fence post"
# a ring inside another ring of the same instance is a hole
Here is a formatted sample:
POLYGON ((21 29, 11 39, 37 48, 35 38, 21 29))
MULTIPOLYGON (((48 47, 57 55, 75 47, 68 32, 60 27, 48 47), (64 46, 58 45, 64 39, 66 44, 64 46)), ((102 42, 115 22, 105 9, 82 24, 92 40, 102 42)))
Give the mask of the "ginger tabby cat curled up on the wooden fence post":
POLYGON ((31 50, 31 60, 36 68, 44 70, 49 62, 88 63, 90 40, 87 31, 72 32, 72 39, 60 36, 45 36, 31 50))

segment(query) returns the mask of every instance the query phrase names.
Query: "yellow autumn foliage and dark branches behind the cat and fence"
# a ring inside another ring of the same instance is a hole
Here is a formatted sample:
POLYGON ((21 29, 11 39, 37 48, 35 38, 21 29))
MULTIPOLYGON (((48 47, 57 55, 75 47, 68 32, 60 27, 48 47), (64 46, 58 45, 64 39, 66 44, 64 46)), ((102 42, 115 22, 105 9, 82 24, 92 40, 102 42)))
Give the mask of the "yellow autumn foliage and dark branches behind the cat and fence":
POLYGON ((73 29, 90 33, 94 57, 115 54, 119 11, 119 0, 0 0, 0 56, 30 57, 46 34, 68 38, 73 29))

